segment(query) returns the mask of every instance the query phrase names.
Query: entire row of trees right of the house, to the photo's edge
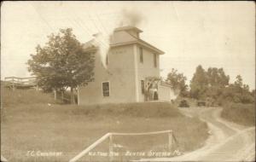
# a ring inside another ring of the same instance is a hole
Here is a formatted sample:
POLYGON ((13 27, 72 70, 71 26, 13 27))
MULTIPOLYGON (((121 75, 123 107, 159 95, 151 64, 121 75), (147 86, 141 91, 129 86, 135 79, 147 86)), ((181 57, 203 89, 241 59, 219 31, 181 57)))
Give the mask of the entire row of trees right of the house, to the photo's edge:
POLYGON ((185 84, 186 79, 183 73, 172 69, 166 82, 171 84, 173 89, 180 90, 181 97, 212 101, 214 105, 220 106, 226 102, 254 102, 255 90, 250 91, 249 86, 243 84, 241 75, 237 75, 236 81, 230 83, 230 76, 225 74, 223 68, 209 67, 205 70, 200 65, 196 67, 189 86, 185 84))

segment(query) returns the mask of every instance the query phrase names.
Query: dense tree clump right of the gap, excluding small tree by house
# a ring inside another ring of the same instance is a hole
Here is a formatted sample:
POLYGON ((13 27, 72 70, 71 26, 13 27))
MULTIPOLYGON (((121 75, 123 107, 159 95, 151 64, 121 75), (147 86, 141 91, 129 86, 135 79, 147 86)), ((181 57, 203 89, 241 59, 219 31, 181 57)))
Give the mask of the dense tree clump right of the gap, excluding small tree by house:
POLYGON ((253 92, 249 91, 247 84, 242 83, 241 75, 236 76, 234 84, 229 84, 229 81, 230 76, 224 73, 223 68, 209 67, 206 72, 198 66, 190 82, 190 95, 195 99, 211 99, 218 105, 226 101, 254 102, 253 92))

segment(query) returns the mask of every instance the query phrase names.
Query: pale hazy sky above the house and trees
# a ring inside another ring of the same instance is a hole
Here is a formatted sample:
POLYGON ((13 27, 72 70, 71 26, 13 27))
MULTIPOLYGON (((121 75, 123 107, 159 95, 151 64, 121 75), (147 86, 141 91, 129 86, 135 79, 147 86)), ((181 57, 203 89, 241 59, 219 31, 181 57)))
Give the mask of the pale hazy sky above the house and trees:
POLYGON ((160 56, 163 78, 175 68, 189 84, 198 65, 223 67, 230 83, 240 74, 255 89, 253 2, 4 2, 1 79, 30 76, 26 61, 60 28, 72 27, 85 43, 97 32, 131 23, 129 16, 143 30, 140 37, 165 52, 160 56))

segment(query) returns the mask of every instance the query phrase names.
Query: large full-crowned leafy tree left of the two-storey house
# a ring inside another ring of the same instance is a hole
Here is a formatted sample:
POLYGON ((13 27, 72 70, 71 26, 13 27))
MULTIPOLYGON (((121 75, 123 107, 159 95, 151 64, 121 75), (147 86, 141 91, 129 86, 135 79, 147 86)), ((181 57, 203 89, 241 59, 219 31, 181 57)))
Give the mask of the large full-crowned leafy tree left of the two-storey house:
POLYGON ((61 29, 48 36, 44 47, 36 48, 36 54, 27 61, 28 70, 37 77, 38 86, 44 91, 71 91, 78 85, 86 85, 93 79, 94 55, 85 52, 82 43, 73 35, 72 29, 61 29))

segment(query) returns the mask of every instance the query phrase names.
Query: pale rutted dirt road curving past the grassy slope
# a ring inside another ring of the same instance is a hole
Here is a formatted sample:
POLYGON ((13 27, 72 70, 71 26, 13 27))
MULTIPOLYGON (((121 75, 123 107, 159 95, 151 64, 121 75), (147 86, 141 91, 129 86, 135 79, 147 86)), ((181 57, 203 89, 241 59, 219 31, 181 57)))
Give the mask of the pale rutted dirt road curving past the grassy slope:
POLYGON ((244 127, 220 118, 221 108, 187 108, 181 112, 207 122, 210 136, 203 148, 174 158, 142 161, 254 161, 255 127, 244 127))

